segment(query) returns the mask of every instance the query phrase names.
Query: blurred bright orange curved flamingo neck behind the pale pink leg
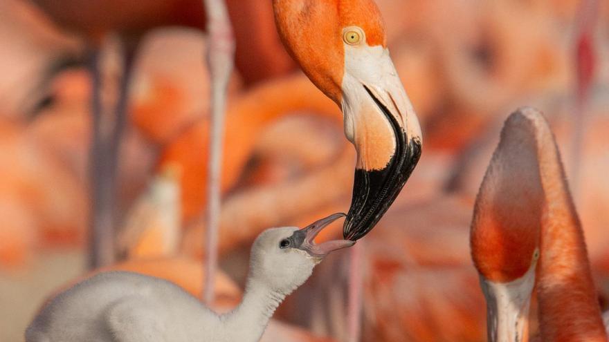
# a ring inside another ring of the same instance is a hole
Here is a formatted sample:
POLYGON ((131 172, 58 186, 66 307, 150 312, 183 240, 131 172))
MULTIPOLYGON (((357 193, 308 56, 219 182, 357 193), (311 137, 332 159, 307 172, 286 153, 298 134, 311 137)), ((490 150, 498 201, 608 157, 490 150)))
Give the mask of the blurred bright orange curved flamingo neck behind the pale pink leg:
MULTIPOLYGON (((233 188, 239 180, 263 129, 280 117, 298 111, 328 117, 329 120, 335 122, 340 120, 336 106, 319 94, 308 79, 300 75, 255 86, 251 91, 235 97, 228 104, 226 126, 231 129, 226 131, 224 145, 226 158, 224 158, 222 167, 224 171, 221 189, 223 191, 233 188), (283 95, 287 88, 298 89, 298 91, 283 95)), ((138 116, 136 120, 143 121, 147 118, 138 116)), ((183 169, 181 178, 183 219, 187 224, 199 216, 201 209, 206 204, 203 194, 207 187, 207 155, 192 153, 192 151, 206 151, 208 126, 208 120, 199 120, 183 129, 163 147, 159 159, 159 165, 174 163, 183 169)))

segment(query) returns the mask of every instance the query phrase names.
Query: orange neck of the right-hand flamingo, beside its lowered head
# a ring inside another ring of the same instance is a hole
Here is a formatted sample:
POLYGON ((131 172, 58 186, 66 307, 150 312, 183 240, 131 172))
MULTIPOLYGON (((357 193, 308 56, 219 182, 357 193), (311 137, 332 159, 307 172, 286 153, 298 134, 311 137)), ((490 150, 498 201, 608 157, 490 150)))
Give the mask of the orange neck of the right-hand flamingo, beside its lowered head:
MULTIPOLYGON (((543 140, 542 140, 543 141, 543 140)), ((538 269, 543 341, 607 341, 581 223, 558 150, 539 153, 545 191, 538 269)))

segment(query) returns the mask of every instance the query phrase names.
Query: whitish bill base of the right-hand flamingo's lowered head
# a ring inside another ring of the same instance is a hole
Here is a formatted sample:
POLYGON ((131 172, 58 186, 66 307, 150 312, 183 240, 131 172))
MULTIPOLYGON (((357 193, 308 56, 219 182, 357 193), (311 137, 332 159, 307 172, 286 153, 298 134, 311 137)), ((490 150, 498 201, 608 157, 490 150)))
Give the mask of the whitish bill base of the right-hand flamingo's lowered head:
POLYGON ((536 250, 527 273, 509 283, 496 283, 480 276, 480 286, 487 300, 488 341, 525 341, 538 258, 536 250))

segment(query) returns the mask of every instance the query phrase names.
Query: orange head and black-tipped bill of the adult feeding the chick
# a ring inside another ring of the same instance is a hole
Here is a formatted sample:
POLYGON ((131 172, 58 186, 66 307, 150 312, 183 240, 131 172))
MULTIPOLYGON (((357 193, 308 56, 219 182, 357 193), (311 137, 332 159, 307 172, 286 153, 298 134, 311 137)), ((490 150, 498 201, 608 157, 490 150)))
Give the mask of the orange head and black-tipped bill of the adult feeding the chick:
POLYGON ((343 235, 357 240, 389 209, 421 155, 421 128, 373 0, 273 0, 288 52, 342 109, 357 151, 343 235))

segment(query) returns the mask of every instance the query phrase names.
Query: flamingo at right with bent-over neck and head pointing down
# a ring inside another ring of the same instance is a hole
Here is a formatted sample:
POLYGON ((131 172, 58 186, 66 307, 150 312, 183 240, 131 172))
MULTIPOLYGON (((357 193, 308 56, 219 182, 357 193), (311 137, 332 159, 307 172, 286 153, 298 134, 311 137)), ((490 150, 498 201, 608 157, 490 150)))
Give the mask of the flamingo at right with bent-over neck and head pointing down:
POLYGON ((535 283, 542 341, 608 341, 560 154, 532 108, 505 123, 476 200, 471 253, 489 341, 525 341, 535 283))

